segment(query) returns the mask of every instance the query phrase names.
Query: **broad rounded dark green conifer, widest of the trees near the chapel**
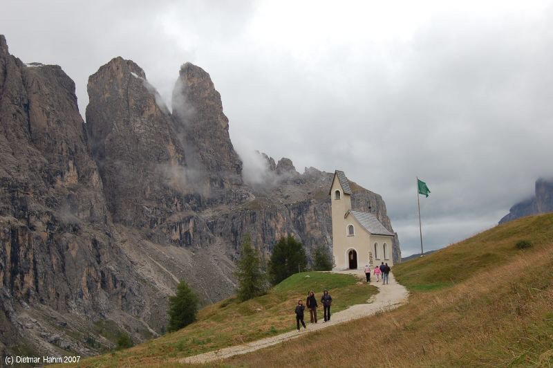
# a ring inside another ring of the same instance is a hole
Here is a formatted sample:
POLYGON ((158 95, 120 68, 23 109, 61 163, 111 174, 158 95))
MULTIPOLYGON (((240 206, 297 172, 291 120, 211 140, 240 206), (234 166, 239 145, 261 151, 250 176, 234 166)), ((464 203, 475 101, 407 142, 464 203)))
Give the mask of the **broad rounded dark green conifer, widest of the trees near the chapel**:
POLYGON ((269 260, 271 282, 279 284, 283 279, 306 268, 307 256, 303 245, 291 235, 288 235, 288 238, 281 237, 275 244, 269 260))

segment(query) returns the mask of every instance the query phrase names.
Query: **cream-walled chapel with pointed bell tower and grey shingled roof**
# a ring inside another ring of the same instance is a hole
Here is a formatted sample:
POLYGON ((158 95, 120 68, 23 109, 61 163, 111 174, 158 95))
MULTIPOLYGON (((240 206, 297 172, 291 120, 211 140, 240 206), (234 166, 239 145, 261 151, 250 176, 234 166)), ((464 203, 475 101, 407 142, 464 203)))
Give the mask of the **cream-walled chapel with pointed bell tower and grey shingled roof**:
POLYGON ((381 262, 393 265, 392 241, 389 232, 369 212, 351 209, 351 189, 346 174, 334 173, 330 186, 332 205, 332 258, 338 270, 371 267, 381 262))

